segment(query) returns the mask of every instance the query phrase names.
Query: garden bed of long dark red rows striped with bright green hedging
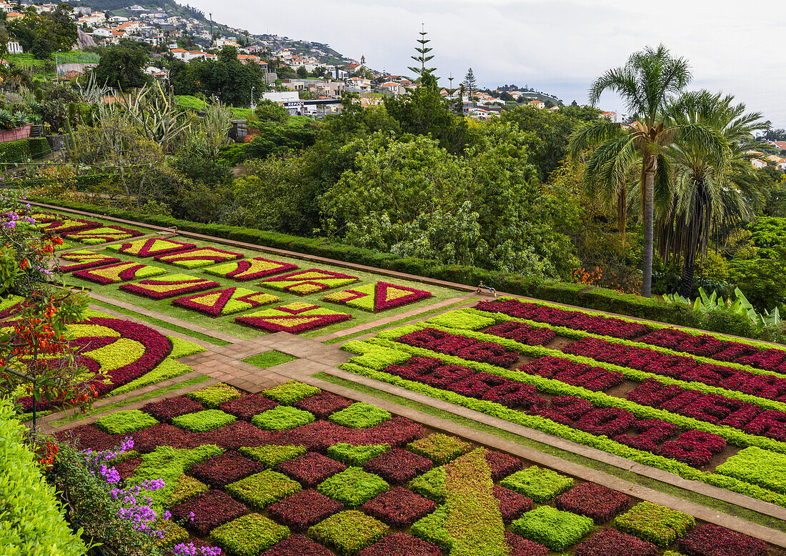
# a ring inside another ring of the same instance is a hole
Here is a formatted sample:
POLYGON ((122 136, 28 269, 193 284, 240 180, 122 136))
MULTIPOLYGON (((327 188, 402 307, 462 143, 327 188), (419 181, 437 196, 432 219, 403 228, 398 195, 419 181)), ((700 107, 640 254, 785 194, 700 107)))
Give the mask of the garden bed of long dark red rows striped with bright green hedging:
POLYGON ((786 349, 512 299, 343 349, 344 370, 786 506, 765 470, 786 457, 786 349))

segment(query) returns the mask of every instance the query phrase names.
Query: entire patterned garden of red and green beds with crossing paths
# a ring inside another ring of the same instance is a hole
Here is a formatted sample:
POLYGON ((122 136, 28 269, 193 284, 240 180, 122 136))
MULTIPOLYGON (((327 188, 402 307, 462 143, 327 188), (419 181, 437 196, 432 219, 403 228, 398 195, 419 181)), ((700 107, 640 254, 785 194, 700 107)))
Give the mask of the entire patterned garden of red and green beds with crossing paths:
POLYGON ((166 554, 786 554, 782 346, 33 216, 100 394, 39 418, 166 554))

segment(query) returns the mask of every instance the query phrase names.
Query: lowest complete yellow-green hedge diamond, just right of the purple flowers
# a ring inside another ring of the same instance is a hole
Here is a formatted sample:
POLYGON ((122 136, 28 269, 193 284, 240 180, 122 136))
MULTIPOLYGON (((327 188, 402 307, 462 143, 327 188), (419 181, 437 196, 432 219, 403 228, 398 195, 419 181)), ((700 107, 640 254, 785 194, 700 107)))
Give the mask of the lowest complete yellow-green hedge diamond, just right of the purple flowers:
POLYGON ((248 514, 216 527, 210 538, 235 556, 258 556, 289 536, 289 528, 259 514, 248 514))

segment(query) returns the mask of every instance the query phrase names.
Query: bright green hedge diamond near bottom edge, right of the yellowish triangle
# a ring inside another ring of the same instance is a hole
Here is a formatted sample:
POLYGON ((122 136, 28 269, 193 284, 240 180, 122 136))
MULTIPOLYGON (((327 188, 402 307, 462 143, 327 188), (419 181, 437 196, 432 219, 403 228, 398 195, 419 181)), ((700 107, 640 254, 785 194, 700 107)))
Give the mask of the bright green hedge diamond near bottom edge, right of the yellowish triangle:
POLYGON ((578 543, 592 528, 589 517, 561 512, 551 506, 535 508, 511 524, 512 532, 557 552, 578 543))

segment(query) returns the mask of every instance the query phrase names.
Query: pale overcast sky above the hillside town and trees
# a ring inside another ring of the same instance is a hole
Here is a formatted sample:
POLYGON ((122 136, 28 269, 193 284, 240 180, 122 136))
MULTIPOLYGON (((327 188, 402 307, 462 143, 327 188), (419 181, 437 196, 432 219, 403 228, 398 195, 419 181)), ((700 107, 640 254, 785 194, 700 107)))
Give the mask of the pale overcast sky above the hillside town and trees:
MULTIPOLYGON (((409 73, 425 24, 440 84, 472 67, 482 87, 516 83, 586 102, 630 53, 663 42, 689 59, 692 88, 722 90, 786 127, 782 0, 182 0, 222 24, 328 43, 375 69, 409 73)), ((626 112, 611 94, 600 108, 626 112)))

